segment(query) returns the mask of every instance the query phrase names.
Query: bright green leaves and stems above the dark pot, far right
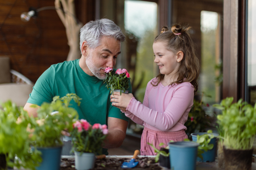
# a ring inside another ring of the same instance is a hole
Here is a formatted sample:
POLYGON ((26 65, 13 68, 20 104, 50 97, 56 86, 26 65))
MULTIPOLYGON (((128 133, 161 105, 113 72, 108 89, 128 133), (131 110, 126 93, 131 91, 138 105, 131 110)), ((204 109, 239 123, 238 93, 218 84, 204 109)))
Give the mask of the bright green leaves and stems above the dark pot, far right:
POLYGON ((227 97, 220 105, 214 105, 222 110, 222 114, 217 116, 217 123, 223 130, 224 146, 228 149, 251 149, 256 134, 256 105, 253 108, 242 99, 232 102, 233 97, 227 97))

